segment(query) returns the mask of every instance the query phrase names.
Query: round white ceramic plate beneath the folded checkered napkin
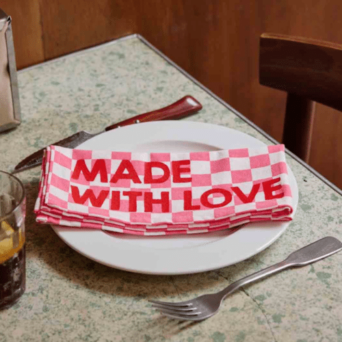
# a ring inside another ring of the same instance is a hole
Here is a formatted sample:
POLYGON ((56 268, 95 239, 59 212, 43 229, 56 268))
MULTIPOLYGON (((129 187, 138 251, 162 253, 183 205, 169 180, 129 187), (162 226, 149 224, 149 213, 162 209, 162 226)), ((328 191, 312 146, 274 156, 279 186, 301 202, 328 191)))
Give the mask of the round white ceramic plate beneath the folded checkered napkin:
MULTIPOLYGON (((246 133, 215 124, 159 121, 114 129, 93 137, 78 148, 189 152, 260 146, 265 144, 246 133)), ((289 179, 295 210, 298 187, 291 170, 289 179)), ((276 241, 288 225, 289 222, 253 223, 231 235, 219 231, 162 237, 108 235, 104 231, 60 226, 53 226, 53 229, 68 246, 110 267, 144 274, 191 274, 252 257, 276 241)))

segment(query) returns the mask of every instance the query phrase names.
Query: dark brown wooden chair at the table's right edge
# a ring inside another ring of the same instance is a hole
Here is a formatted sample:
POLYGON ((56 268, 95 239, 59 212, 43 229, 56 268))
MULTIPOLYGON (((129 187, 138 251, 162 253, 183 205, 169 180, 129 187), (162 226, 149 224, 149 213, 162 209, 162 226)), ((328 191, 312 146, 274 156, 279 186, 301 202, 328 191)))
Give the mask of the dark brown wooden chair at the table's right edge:
POLYGON ((262 34, 259 82, 285 90, 282 143, 308 162, 315 102, 342 111, 342 44, 262 34))

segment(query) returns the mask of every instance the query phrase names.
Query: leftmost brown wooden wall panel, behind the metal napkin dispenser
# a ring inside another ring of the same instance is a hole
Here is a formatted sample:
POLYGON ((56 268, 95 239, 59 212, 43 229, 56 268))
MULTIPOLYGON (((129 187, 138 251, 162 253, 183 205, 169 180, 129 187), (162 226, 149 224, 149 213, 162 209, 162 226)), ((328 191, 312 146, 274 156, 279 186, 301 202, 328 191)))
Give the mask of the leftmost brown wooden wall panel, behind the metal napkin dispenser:
POLYGON ((18 69, 44 61, 39 0, 3 0, 0 7, 12 17, 18 69))

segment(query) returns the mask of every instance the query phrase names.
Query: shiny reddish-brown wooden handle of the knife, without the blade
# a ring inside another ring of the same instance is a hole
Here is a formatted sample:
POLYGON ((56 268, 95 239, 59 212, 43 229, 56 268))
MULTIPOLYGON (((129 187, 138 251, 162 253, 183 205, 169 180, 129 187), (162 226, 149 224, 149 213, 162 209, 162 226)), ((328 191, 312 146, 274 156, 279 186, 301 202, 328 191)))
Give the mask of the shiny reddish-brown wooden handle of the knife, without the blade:
POLYGON ((148 111, 148 113, 134 116, 133 118, 129 118, 119 122, 118 124, 112 124, 111 126, 106 127, 105 131, 110 131, 111 129, 127 126, 128 124, 134 124, 137 122, 180 119, 185 116, 189 116, 190 114, 194 114, 200 109, 202 109, 202 105, 196 100, 196 98, 187 95, 167 107, 148 111))

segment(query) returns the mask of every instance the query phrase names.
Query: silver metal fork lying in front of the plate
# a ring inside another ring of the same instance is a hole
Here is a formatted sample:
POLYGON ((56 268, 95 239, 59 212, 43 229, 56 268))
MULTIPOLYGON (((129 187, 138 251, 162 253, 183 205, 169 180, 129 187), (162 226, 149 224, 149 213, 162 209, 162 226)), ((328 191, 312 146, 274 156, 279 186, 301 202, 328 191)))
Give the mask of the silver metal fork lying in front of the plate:
POLYGON ((339 250, 342 250, 341 241, 335 237, 324 237, 323 239, 313 242, 313 244, 292 252, 287 259, 280 263, 261 269, 259 272, 233 282, 233 284, 218 293, 200 295, 193 300, 178 303, 159 302, 158 300, 149 300, 149 302, 152 302, 154 308, 158 308, 163 315, 168 317, 189 321, 201 321, 202 319, 206 319, 215 315, 215 313, 218 313, 224 298, 226 298, 228 294, 239 289, 239 287, 249 284, 254 280, 265 278, 282 269, 315 263, 315 261, 329 257, 330 255, 339 252, 339 250))

